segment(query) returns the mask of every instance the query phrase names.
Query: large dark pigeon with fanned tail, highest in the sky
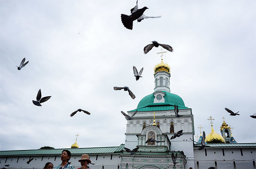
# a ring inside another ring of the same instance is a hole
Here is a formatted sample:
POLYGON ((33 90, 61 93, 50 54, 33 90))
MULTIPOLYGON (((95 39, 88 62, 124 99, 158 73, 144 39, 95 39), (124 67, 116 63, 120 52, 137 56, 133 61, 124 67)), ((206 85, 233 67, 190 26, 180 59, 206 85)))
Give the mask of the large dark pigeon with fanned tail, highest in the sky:
MULTIPOLYGON (((138 0, 136 2, 136 6, 131 9, 131 15, 121 14, 121 20, 125 28, 132 30, 133 21, 137 19, 138 22, 142 21, 143 19, 149 18, 146 15, 143 15, 145 10, 148 9, 147 7, 143 7, 141 9, 138 8, 138 0)), ((161 16, 157 16, 161 17, 161 16)), ((153 18, 153 17, 151 17, 153 18)))

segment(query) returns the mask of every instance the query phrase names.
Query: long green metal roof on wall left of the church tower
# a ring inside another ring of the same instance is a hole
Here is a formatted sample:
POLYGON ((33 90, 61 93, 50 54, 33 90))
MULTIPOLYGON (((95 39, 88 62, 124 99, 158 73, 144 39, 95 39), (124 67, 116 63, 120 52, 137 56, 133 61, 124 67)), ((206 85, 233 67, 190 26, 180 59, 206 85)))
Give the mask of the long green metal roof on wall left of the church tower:
POLYGON ((69 150, 71 154, 105 154, 120 153, 124 149, 124 144, 118 147, 95 147, 95 148, 73 148, 73 149, 37 149, 37 150, 11 150, 0 151, 0 156, 17 155, 54 155, 61 154, 63 150, 69 150))

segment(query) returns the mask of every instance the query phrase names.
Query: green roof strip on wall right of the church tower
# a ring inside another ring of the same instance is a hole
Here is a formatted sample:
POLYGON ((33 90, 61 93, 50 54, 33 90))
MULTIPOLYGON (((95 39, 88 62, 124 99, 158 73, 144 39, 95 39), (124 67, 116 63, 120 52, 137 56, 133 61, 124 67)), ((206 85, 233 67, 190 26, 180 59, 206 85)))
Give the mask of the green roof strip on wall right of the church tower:
MULTIPOLYGON (((194 148, 199 148, 200 144, 194 144, 194 148)), ((222 143, 222 144, 206 144, 205 148, 219 148, 219 147, 254 147, 256 148, 256 143, 222 143)))

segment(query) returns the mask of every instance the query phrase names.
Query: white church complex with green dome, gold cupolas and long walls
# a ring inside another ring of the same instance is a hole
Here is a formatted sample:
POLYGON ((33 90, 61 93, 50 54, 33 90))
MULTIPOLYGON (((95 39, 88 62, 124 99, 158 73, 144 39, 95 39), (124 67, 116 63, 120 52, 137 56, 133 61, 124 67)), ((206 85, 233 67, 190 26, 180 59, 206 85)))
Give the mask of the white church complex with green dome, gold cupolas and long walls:
MULTIPOLYGON (((170 93, 170 66, 161 61, 154 67, 154 93, 140 100, 136 109, 128 111, 132 120, 127 120, 124 144, 116 147, 79 148, 76 144, 68 149, 72 156, 69 161, 80 167, 82 154, 88 154, 95 165, 91 169, 256 169, 256 143, 236 143, 230 128, 223 121, 221 135, 213 127, 206 141, 222 140, 222 143, 208 143, 203 150, 194 144, 194 122, 192 109, 185 106, 181 97, 170 93), (174 105, 178 106, 177 118, 174 105), (154 118, 153 118, 154 117, 154 118), (183 135, 170 140, 174 133, 183 130, 183 135), (148 138, 159 142, 152 145, 148 138), (124 147, 139 150, 131 155, 124 147), (178 162, 173 165, 172 153, 178 162)), ((200 137, 202 139, 202 136, 200 137)), ((200 142, 199 139, 199 142, 200 142)), ((0 168, 42 169, 46 162, 54 166, 60 164, 60 154, 64 149, 37 149, 0 151, 0 168), (34 158, 29 164, 31 158, 34 158), (9 166, 5 166, 9 164, 9 166)))

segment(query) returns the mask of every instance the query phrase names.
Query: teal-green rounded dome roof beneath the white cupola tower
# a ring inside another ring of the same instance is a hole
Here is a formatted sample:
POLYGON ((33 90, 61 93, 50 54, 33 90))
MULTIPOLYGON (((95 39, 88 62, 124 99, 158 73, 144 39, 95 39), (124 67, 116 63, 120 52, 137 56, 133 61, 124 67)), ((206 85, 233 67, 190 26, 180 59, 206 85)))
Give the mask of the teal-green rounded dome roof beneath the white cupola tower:
MULTIPOLYGON (((181 97, 176 94, 162 91, 165 93, 163 97, 164 103, 154 103, 154 94, 150 94, 142 98, 137 106, 137 111, 161 111, 161 110, 174 110, 174 105, 178 105, 179 109, 189 109, 185 106, 181 97)), ((135 111, 131 110, 131 111, 135 111)))

